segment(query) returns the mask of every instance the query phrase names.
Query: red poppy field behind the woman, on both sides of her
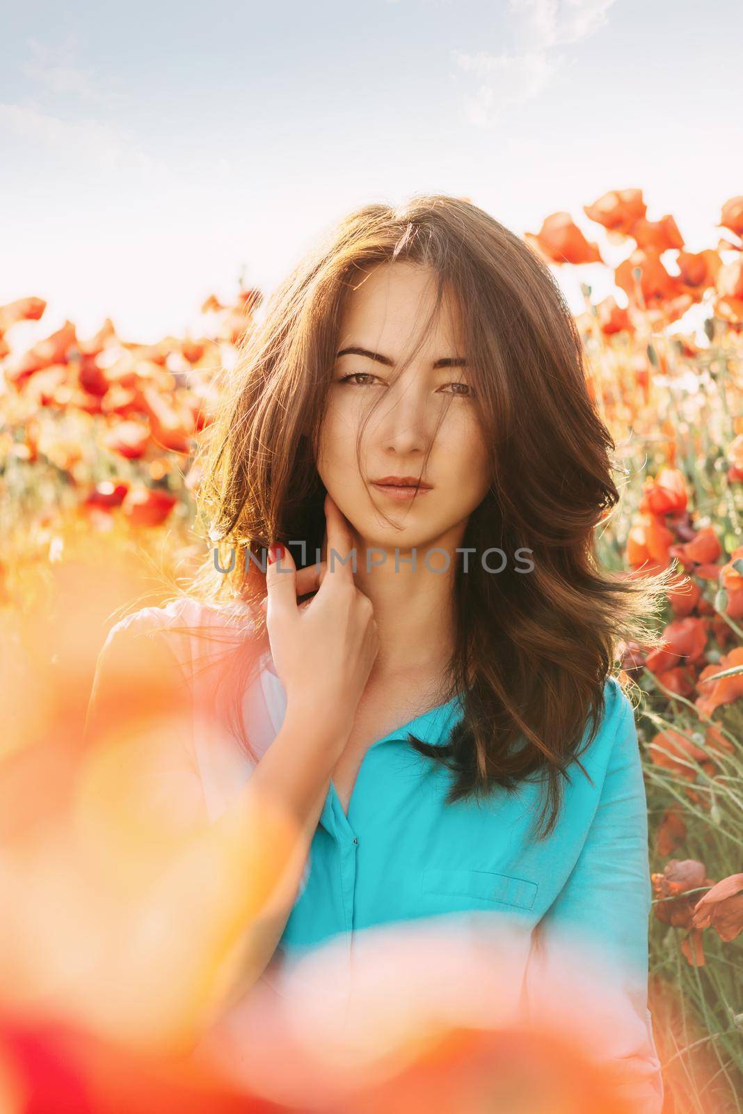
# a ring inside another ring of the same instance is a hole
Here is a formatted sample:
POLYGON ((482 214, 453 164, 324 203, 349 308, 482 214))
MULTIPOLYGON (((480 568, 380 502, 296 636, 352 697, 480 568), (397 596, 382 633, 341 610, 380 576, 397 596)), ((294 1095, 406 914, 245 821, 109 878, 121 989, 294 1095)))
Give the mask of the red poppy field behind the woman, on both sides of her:
MULTIPOLYGON (((598 555, 627 577, 677 573, 663 646, 626 645, 621 661, 645 770, 651 1009, 673 1112, 743 1110, 743 196, 713 204, 717 243, 699 252, 673 216, 648 217, 640 189, 584 206, 593 237, 568 213, 524 233, 558 281, 613 271, 615 294, 596 301, 583 283, 576 314, 622 489, 598 555), (618 265, 607 247, 623 250, 618 265)), ((157 604, 209 548, 197 450, 262 300, 241 286, 230 304, 210 295, 199 335, 141 344, 112 319, 88 338, 66 321, 27 348, 14 338, 43 321, 43 297, 0 306, 3 840, 60 805, 65 775, 48 762, 27 778, 21 755, 50 734, 75 750, 111 613, 157 604)), ((208 1101, 188 1108, 238 1108, 208 1101)))

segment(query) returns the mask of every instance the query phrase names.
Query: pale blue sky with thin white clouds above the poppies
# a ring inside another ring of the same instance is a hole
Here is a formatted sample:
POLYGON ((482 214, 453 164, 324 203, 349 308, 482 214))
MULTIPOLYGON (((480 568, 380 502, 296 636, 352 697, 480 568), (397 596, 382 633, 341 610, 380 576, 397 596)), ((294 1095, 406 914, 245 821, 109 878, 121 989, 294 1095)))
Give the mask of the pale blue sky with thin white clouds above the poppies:
MULTIPOLYGON (((13 348, 198 334, 369 202, 567 211, 603 247, 583 205, 642 188, 700 251, 743 193, 741 0, 37 0, 0 30, 0 304, 48 301, 13 348)), ((559 277, 576 311, 613 290, 559 277)))

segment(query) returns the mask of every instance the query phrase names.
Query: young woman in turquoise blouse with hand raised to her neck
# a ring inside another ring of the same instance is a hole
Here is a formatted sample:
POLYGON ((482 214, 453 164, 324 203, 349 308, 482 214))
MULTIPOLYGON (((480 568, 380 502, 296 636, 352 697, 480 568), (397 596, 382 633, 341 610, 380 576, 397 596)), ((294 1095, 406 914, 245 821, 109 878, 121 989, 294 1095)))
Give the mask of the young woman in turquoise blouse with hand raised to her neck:
POLYGON ((666 577, 596 559, 614 443, 549 270, 466 201, 365 206, 274 293, 209 433, 214 555, 111 629, 89 730, 136 704, 121 677, 162 631, 148 672, 192 710, 174 791, 214 821, 249 781, 296 817, 247 981, 373 925, 508 917, 525 970, 566 939, 618 973, 615 1054, 656 1110, 645 799, 612 671, 655 644, 666 577))

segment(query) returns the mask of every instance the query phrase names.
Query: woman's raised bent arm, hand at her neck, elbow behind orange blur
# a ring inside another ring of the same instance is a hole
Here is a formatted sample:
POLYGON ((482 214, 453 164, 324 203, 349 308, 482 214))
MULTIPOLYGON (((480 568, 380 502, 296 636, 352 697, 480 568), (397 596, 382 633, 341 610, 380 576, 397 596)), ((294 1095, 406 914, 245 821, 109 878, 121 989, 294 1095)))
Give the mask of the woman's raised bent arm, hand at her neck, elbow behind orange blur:
MULTIPOLYGON (((350 528, 328 495, 325 512, 328 551, 348 555, 350 528)), ((331 561, 329 569, 320 563, 298 573, 288 550, 284 561, 276 557, 279 551, 271 547, 266 625, 287 695, 284 722, 226 811, 214 823, 198 825, 158 873, 148 900, 132 912, 117 967, 120 983, 126 970, 122 987, 131 987, 133 1004, 128 1005, 138 1025, 149 1026, 150 1038, 166 1044, 192 1048, 205 1014, 218 1014, 228 997, 231 1005, 270 961, 379 647, 371 603, 356 588, 349 563, 331 561), (297 597, 308 587, 317 592, 300 608, 297 597), (150 987, 158 993, 147 994, 150 987)), ((184 766, 198 774, 194 754, 187 755, 182 743, 178 749, 182 677, 159 639, 142 638, 142 651, 148 641, 142 665, 131 642, 120 642, 116 654, 111 639, 108 664, 100 663, 97 700, 135 716, 141 730, 142 693, 153 687, 156 710, 166 720, 168 713, 176 716, 175 726, 165 727, 166 769, 170 775, 184 766), (130 678, 132 666, 126 663, 132 658, 143 687, 129 681, 129 692, 122 693, 115 674, 118 668, 130 678)), ((105 725, 106 719, 93 711, 90 724, 105 725)), ((146 1034, 138 1029, 138 1035, 146 1034)))

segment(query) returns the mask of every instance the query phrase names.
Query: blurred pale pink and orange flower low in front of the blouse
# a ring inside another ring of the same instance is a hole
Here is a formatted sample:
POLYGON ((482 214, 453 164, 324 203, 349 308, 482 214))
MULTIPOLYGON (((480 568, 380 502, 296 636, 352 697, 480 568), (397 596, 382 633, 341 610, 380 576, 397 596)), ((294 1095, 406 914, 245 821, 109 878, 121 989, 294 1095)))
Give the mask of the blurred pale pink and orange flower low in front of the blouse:
POLYGON ((350 962, 329 941, 261 980, 197 1059, 291 1108, 646 1108, 637 1064, 606 1062, 641 1024, 616 1009, 606 967, 565 948, 525 998, 522 950, 487 915, 367 929, 350 962))

